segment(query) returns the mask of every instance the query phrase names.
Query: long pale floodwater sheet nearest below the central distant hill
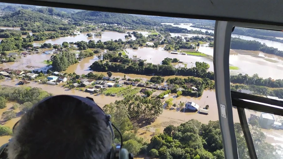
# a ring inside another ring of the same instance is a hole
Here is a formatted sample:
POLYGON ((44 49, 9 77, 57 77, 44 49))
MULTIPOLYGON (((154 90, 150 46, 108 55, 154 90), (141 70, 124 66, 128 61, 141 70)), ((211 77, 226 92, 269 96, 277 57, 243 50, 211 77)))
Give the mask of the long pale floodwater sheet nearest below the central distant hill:
MULTIPOLYGON (((67 37, 61 37, 61 38, 55 38, 55 39, 49 39, 49 40, 44 40, 44 41, 34 41, 33 42, 33 46, 40 46, 41 44, 44 43, 51 43, 51 44, 62 44, 64 41, 66 42, 77 42, 77 41, 90 41, 90 40, 101 40, 101 41, 108 41, 108 40, 118 40, 119 38, 121 38, 123 41, 129 40, 125 38, 125 35, 128 35, 127 33, 118 33, 118 32, 114 32, 114 31, 107 31, 105 30, 104 32, 101 32, 101 36, 98 37, 87 37, 86 34, 87 33, 96 33, 98 31, 93 31, 93 32, 86 32, 86 33, 80 33, 80 32, 75 32, 76 34, 80 34, 80 35, 76 35, 76 36, 67 36, 67 37)), ((135 40, 136 38, 134 36, 132 36, 132 38, 135 40)))

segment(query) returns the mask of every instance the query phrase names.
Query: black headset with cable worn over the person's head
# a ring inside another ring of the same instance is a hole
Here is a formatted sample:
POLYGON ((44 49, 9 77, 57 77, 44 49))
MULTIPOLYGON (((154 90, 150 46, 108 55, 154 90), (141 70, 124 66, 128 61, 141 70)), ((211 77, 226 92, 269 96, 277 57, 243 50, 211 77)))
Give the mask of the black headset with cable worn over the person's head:
MULTIPOLYGON (((47 97, 43 100, 41 100, 37 105, 45 102, 46 100, 49 100, 53 97, 58 97, 58 96, 68 96, 68 97, 73 97, 77 100, 80 100, 81 102, 89 105, 89 106, 92 106, 93 108, 95 109, 98 109, 100 110, 100 113, 103 114, 105 116, 105 121, 106 121, 106 124, 109 126, 110 130, 111 130, 111 133, 112 133, 112 141, 113 141, 113 144, 115 145, 114 147, 111 146, 111 149, 110 149, 110 152, 108 153, 107 155, 107 158, 106 159, 133 159, 133 154, 129 153, 126 149, 122 148, 123 146, 123 138, 122 138, 122 134, 121 132, 116 128, 115 125, 113 125, 110 121, 111 119, 111 115, 106 115, 105 112, 94 102, 94 100, 90 97, 80 97, 80 96, 77 96, 77 95, 57 95, 57 96, 50 96, 50 97, 47 97), (115 138, 115 135, 114 135, 114 131, 113 131, 113 128, 112 126, 118 131, 118 133, 120 134, 121 136, 121 144, 116 144, 115 141, 114 141, 114 138, 115 138)), ((17 126, 19 121, 16 122, 16 124, 13 126, 13 131, 14 131, 14 128, 17 126)), ((12 139, 10 139, 12 140, 12 139)), ((9 140, 9 141, 10 141, 9 140)), ((2 145, 0 147, 0 159, 1 158, 8 158, 7 156, 7 153, 6 153, 6 150, 7 150, 7 146, 8 146, 8 143, 2 145)))

